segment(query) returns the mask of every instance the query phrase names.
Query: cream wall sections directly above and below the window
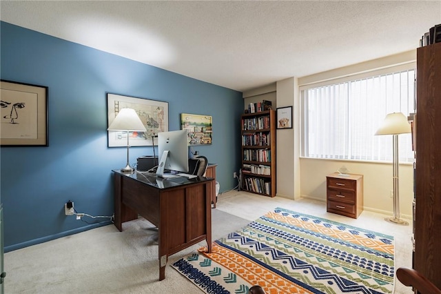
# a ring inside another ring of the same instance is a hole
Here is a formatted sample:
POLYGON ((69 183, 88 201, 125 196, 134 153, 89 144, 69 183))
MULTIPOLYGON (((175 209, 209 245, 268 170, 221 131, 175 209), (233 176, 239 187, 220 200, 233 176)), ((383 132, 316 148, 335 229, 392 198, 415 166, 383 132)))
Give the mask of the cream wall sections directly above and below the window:
MULTIPOLYGON (((298 84, 302 86, 415 61, 416 50, 411 50, 345 68, 320 72, 317 75, 301 77, 298 79, 298 84)), ((302 158, 300 159, 300 195, 326 201, 326 176, 334 173, 341 166, 346 166, 351 173, 363 175, 365 210, 392 215, 393 199, 390 197, 390 192, 393 189, 392 163, 302 158)), ((413 168, 411 164, 400 165, 399 175, 400 213, 402 217, 411 219, 413 201, 413 168)))

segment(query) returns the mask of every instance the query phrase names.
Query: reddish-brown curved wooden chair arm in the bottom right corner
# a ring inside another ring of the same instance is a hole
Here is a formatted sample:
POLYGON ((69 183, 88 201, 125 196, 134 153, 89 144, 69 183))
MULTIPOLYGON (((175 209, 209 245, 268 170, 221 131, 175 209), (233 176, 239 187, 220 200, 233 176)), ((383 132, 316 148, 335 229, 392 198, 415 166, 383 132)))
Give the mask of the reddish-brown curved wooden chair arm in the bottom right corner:
POLYGON ((426 277, 415 271, 413 268, 404 266, 398 268, 397 278, 404 286, 413 287, 421 294, 441 294, 441 290, 432 284, 426 277))

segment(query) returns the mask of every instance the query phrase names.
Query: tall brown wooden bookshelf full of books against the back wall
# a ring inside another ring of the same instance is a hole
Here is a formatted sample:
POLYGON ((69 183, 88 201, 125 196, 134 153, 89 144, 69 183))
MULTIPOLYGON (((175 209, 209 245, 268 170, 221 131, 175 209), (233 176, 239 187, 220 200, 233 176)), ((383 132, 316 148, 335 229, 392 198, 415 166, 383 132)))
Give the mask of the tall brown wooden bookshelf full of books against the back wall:
POLYGON ((242 115, 241 190, 276 196, 276 112, 242 115))

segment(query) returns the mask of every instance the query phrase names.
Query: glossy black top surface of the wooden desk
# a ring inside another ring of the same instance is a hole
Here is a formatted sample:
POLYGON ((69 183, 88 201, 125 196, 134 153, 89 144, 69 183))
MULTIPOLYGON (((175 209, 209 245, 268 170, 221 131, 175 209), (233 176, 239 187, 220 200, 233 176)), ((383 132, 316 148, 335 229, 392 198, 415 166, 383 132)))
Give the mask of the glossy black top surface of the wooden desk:
POLYGON ((126 177, 131 177, 132 179, 136 179, 136 181, 142 182, 144 184, 153 186, 158 189, 166 189, 166 188, 174 188, 177 186, 187 185, 187 184, 195 184, 201 182, 208 182, 212 180, 211 177, 172 177, 172 178, 162 178, 156 177, 154 173, 147 173, 145 171, 134 170, 134 172, 121 172, 121 170, 112 170, 114 173, 119 175, 125 175, 126 177))

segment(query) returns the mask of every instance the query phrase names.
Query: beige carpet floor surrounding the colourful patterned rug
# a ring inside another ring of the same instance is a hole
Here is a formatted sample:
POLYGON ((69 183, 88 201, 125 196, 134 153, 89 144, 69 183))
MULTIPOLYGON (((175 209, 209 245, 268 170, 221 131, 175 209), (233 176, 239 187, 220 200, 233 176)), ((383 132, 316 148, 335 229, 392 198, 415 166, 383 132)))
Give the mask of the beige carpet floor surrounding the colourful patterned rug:
MULTIPOLYGON (((384 215, 365 211, 358 219, 326 213, 325 203, 264 197, 232 191, 219 195, 212 210, 213 239, 236 231, 277 206, 325 217, 360 228, 388 233, 396 239, 397 266, 411 266, 411 226, 394 226, 384 215), (236 215, 236 216, 235 216, 236 215), (237 217, 240 216, 240 217, 237 217)), ((172 255, 165 280, 158 281, 155 230, 138 219, 30 246, 5 254, 6 293, 201 293, 170 266, 205 242, 172 255)), ((412 293, 396 282, 396 292, 412 293)))

